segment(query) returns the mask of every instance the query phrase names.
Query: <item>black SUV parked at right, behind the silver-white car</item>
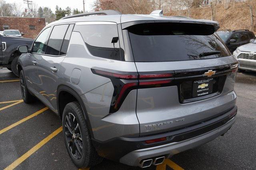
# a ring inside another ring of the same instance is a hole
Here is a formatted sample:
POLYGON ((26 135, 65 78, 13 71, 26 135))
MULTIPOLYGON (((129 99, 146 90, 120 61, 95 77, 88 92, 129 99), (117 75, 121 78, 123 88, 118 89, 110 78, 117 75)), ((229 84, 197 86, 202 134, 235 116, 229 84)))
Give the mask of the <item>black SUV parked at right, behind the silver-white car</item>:
POLYGON ((255 35, 248 29, 239 30, 218 30, 217 34, 224 41, 229 51, 233 53, 237 47, 250 43, 250 40, 255 39, 255 35))

